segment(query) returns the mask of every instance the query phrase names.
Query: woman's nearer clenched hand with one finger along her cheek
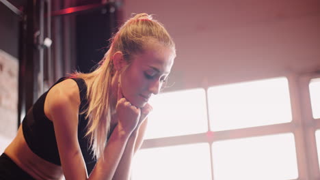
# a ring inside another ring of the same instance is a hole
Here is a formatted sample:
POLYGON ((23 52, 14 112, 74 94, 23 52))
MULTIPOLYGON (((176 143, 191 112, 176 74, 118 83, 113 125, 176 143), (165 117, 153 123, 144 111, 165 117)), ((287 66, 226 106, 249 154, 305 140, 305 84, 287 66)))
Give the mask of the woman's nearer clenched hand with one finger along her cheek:
POLYGON ((118 102, 116 105, 118 125, 124 132, 131 133, 135 130, 141 116, 140 108, 133 106, 122 94, 120 83, 118 84, 118 102))

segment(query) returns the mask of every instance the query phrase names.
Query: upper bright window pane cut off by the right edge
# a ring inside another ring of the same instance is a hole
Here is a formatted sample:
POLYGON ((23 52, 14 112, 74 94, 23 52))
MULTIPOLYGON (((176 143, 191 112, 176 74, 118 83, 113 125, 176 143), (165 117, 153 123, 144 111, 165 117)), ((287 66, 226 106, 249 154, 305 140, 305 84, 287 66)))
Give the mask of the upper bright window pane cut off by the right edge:
POLYGON ((309 84, 312 115, 320 118, 320 78, 312 79, 309 84))

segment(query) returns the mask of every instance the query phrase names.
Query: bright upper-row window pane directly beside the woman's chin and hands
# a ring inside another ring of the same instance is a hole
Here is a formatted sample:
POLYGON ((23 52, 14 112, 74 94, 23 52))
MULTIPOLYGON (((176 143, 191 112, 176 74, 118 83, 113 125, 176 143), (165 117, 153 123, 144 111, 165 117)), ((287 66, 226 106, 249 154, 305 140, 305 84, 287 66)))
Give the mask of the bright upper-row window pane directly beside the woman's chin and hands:
POLYGON ((155 95, 146 138, 196 134, 208 130, 204 89, 155 95))

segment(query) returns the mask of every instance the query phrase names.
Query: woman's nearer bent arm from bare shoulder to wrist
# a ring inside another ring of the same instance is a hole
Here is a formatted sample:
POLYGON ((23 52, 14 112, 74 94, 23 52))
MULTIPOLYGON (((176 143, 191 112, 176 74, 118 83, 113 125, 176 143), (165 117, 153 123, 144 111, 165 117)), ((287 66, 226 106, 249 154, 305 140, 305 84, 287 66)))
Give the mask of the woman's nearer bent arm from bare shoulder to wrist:
MULTIPOLYGON (((68 80, 64 80, 49 91, 46 97, 48 117, 53 121, 57 147, 66 180, 88 179, 77 136, 79 89, 77 84, 74 84, 75 87, 70 87, 72 83, 76 83, 75 81, 69 80, 67 82, 68 80)), ((126 112, 126 109, 123 110, 126 106, 124 104, 120 105, 122 112, 126 112)), ((123 121, 127 121, 126 117, 133 117, 132 113, 124 113, 124 115, 127 116, 124 117, 123 121)), ((112 179, 132 132, 129 131, 129 126, 122 123, 117 125, 105 147, 104 160, 99 158, 89 179, 112 179)))

